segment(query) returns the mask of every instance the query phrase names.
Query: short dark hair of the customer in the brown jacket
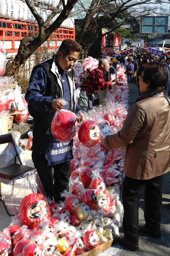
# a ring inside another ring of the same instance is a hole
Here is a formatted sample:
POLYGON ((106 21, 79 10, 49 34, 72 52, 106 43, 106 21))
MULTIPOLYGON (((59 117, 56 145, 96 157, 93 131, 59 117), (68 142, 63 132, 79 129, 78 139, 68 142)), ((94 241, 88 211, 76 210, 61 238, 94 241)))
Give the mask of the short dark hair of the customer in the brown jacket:
POLYGON ((144 67, 143 81, 150 83, 148 85, 149 90, 157 93, 163 92, 168 81, 166 67, 155 61, 149 62, 144 67))

